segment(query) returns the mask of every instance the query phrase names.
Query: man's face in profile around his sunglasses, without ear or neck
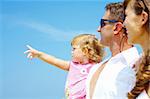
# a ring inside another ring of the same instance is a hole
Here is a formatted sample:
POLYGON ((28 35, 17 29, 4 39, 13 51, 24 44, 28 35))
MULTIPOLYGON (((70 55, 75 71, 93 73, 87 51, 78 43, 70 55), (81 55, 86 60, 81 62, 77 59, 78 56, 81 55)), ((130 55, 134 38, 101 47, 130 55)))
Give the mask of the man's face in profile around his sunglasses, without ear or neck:
MULTIPOLYGON (((106 11, 102 19, 109 20, 110 11, 106 11)), ((105 22, 103 27, 98 27, 98 32, 101 34, 101 43, 105 46, 110 46, 113 37, 113 25, 109 22, 105 22)))

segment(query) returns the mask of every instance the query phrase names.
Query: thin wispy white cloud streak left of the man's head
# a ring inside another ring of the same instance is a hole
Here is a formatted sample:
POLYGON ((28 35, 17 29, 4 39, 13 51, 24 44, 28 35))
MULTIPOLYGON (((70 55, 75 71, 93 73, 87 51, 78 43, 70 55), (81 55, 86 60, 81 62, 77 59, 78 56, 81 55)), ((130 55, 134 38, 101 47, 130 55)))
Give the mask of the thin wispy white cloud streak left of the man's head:
POLYGON ((43 35, 46 35, 56 41, 70 41, 76 35, 83 34, 83 33, 97 34, 94 33, 93 31, 83 31, 83 30, 64 31, 56 27, 53 27, 52 25, 37 23, 37 22, 24 21, 24 22, 19 22, 19 24, 24 25, 27 28, 34 29, 35 31, 39 31, 40 33, 43 33, 43 35))

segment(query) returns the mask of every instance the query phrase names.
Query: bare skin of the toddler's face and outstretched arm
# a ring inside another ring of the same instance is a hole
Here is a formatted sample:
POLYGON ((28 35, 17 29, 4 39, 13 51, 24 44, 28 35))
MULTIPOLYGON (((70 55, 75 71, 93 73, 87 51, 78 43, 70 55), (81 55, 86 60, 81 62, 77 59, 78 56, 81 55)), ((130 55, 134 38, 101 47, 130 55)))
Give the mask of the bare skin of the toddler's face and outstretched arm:
MULTIPOLYGON (((63 70, 69 70, 69 61, 65 61, 62 59, 58 59, 54 56, 47 55, 43 52, 40 52, 31 46, 27 45, 28 50, 25 51, 25 54, 27 55, 27 58, 33 59, 33 58, 40 58, 41 60, 50 63, 52 65, 57 66, 58 68, 61 68, 63 70)), ((77 63, 86 64, 89 62, 88 58, 86 57, 85 53, 81 50, 79 46, 73 46, 72 50, 72 60, 77 63)))

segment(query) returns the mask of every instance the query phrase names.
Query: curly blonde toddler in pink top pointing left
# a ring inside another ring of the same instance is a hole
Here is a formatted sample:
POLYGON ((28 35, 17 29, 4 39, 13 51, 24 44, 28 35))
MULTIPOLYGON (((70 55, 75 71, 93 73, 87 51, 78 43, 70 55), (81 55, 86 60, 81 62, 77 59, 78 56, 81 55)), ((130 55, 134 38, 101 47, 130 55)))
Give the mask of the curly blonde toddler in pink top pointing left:
POLYGON ((72 60, 65 61, 46 53, 40 52, 27 45, 27 57, 39 58, 62 70, 67 70, 68 77, 66 81, 67 99, 86 99, 85 83, 88 73, 95 64, 101 62, 104 47, 98 39, 91 34, 81 34, 73 38, 72 60))

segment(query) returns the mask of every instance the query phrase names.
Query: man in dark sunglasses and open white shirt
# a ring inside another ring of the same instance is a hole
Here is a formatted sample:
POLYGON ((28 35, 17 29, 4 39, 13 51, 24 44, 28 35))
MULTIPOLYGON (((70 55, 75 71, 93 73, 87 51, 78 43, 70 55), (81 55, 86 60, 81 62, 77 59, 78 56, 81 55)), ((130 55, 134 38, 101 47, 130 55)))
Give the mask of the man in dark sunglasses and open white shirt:
POLYGON ((87 79, 87 99, 126 99, 134 87, 133 64, 139 59, 138 51, 128 44, 123 27, 122 3, 110 3, 101 19, 101 43, 108 46, 112 57, 93 67, 87 79))

